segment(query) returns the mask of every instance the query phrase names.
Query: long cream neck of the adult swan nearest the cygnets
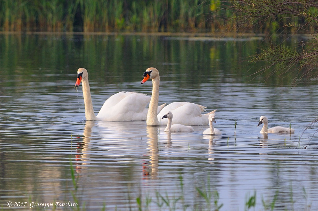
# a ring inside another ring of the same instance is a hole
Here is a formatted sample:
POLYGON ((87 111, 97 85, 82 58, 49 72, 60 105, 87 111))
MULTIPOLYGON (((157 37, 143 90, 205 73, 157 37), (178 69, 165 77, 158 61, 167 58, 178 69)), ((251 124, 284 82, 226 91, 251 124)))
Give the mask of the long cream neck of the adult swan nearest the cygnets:
POLYGON ((147 114, 147 125, 159 125, 159 121, 157 118, 159 102, 159 82, 159 76, 152 79, 152 94, 147 114))

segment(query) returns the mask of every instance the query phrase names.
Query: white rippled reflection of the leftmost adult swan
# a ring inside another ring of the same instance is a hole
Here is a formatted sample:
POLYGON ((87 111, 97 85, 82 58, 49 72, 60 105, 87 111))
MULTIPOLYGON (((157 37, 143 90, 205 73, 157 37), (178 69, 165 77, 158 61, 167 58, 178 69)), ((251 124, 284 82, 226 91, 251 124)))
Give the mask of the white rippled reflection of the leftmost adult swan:
POLYGON ((140 121, 86 121, 83 142, 77 143, 76 168, 82 169, 83 165, 88 165, 93 151, 94 155, 108 156, 114 160, 126 157, 128 153, 135 157, 140 153, 140 148, 134 146, 139 147, 136 140, 139 142, 142 138, 145 127, 145 122, 140 121), (133 140, 134 142, 131 142, 133 140))

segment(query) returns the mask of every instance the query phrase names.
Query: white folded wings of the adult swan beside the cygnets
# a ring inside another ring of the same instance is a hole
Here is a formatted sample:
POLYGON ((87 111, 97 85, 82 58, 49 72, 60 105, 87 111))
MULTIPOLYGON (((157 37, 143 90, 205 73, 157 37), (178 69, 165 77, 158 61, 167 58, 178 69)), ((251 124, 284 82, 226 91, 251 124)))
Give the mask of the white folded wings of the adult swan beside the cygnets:
POLYGON ((208 116, 202 115, 202 106, 192 102, 173 102, 164 107, 158 114, 158 121, 167 124, 167 119, 161 119, 168 111, 173 113, 172 124, 206 125, 209 123, 208 116))

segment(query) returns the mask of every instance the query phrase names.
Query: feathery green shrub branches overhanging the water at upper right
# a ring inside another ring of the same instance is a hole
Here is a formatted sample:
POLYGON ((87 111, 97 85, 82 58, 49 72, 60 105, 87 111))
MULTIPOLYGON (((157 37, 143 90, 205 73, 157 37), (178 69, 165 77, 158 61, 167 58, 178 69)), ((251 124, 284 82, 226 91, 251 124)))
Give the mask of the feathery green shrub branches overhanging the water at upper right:
MULTIPOLYGON (((273 66, 271 74, 278 71, 283 73, 295 72, 294 82, 302 78, 311 78, 318 75, 318 2, 315 0, 231 0, 234 13, 238 14, 239 31, 268 31, 267 38, 281 39, 280 43, 269 43, 269 47, 261 49, 252 56, 252 62, 266 62, 258 73, 265 72, 273 66), (293 34, 305 33, 310 37, 295 41, 297 46, 287 46, 284 41, 293 34)), ((255 74, 257 75, 257 73, 255 74)))

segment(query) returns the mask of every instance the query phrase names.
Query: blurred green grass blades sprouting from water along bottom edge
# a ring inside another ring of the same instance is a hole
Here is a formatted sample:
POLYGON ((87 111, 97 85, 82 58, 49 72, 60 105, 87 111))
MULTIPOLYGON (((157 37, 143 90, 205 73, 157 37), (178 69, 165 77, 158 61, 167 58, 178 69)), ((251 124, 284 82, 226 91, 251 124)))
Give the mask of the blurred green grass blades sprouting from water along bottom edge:
MULTIPOLYGON (((78 190, 78 181, 77 176, 75 175, 75 170, 73 169, 72 162, 70 162, 71 169, 71 180, 73 182, 73 188, 71 190, 71 194, 73 195, 73 201, 79 203, 78 207, 73 207, 73 210, 86 210, 86 201, 80 202, 78 196, 76 194, 78 190)), ((207 181, 202 183, 199 187, 196 187, 196 191, 194 192, 194 197, 196 198, 196 203, 191 204, 192 202, 185 200, 184 193, 184 184, 183 184, 183 176, 180 174, 180 193, 177 195, 171 195, 165 192, 162 195, 162 191, 155 191, 154 198, 149 194, 144 193, 135 193, 137 197, 134 198, 130 196, 128 191, 128 204, 129 210, 222 210, 223 203, 220 203, 219 192, 216 188, 211 187, 210 176, 207 176, 207 181), (191 204, 191 205, 190 205, 191 204)), ((141 190, 139 190, 141 191, 141 190)), ((281 196, 284 196, 286 193, 282 192, 281 196)), ((279 190, 276 190, 272 200, 265 200, 263 195, 261 195, 261 204, 264 210, 274 210, 277 205, 277 201, 279 201, 279 190)), ((287 197, 288 198, 288 197, 287 197)), ((308 204, 308 195, 306 193, 305 188, 303 188, 303 198, 306 200, 306 208, 310 208, 311 204, 308 204)), ((284 197, 282 198, 284 199, 284 197)), ((293 186, 290 184, 289 186, 289 199, 284 199, 286 206, 290 206, 292 210, 294 210, 294 198, 293 198, 293 186)), ((257 206, 257 195, 256 191, 253 192, 253 195, 247 193, 245 195, 245 209, 250 210, 251 208, 256 208, 257 206)), ((280 202, 279 202, 280 203, 280 202)), ((101 210, 107 210, 107 202, 103 203, 101 210)), ((54 208, 55 209, 55 208, 54 208)), ((116 208, 117 210, 117 208, 116 208)))

